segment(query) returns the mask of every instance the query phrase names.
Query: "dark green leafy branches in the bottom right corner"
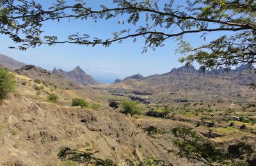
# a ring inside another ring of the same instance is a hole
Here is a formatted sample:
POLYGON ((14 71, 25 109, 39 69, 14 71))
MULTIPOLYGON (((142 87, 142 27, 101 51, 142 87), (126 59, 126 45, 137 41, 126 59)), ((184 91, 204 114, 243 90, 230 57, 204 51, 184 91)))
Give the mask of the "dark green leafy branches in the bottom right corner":
MULTIPOLYGON (((237 144, 223 146, 204 139, 192 128, 178 126, 170 131, 158 129, 154 126, 148 126, 143 130, 156 139, 154 135, 171 134, 173 146, 176 150, 162 146, 169 153, 177 155, 179 158, 186 158, 189 162, 202 162, 204 165, 249 165, 255 160, 255 151, 252 146, 238 142, 237 144)), ((158 139, 161 137, 157 137, 158 139)))

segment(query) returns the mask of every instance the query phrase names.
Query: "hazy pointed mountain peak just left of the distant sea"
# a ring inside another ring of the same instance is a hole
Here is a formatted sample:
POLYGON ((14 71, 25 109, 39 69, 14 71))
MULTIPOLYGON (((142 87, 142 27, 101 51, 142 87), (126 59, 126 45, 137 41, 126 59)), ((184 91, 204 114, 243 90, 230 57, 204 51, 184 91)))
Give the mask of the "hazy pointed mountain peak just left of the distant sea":
POLYGON ((54 68, 54 70, 52 70, 52 73, 58 73, 72 82, 77 82, 83 85, 100 84, 95 79, 93 79, 91 75, 87 75, 79 66, 77 66, 76 68, 74 68, 74 70, 70 72, 65 72, 61 69, 57 70, 57 68, 54 68))

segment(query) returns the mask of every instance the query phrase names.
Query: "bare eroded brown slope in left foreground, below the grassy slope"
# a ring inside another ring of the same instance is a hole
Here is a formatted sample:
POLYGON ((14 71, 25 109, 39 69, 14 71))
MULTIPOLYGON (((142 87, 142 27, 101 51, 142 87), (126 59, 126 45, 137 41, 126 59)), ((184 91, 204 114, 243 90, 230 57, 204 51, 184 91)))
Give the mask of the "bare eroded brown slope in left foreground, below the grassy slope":
POLYGON ((16 94, 1 107, 0 146, 5 149, 0 151, 1 165, 58 165, 56 155, 62 146, 79 149, 85 144, 99 150, 100 158, 118 163, 157 156, 173 165, 185 165, 154 144, 136 126, 140 121, 104 110, 38 103, 16 94))

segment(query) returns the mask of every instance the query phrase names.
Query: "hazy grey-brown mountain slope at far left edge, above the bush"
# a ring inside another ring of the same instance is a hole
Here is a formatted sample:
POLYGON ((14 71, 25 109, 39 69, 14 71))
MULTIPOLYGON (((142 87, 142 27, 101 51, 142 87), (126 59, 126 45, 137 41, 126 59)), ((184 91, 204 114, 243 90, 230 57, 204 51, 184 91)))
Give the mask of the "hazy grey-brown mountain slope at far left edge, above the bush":
POLYGON ((4 56, 3 54, 0 54, 0 64, 4 68, 9 68, 11 70, 16 70, 26 65, 25 63, 15 61, 12 57, 4 56))

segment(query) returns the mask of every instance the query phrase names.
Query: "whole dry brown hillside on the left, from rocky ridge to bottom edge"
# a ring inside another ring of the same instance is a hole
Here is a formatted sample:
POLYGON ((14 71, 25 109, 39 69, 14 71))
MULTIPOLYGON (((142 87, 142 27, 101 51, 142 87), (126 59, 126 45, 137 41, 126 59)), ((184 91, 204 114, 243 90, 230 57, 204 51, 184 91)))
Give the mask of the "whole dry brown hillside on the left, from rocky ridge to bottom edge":
MULTIPOLYGON (((162 120, 124 116, 108 107, 109 98, 114 96, 106 91, 86 86, 81 89, 54 87, 51 82, 33 80, 35 75, 32 73, 38 72, 39 68, 33 66, 30 70, 33 72, 17 73, 16 92, 10 94, 0 107, 0 146, 5 149, 0 152, 1 165, 65 164, 56 157, 63 146, 93 148, 100 151, 97 157, 110 158, 122 165, 125 159, 142 160, 150 156, 171 165, 189 165, 184 159, 177 160, 176 156, 168 155, 158 146, 159 142, 143 132, 142 128, 148 124, 163 126, 162 120), (40 89, 35 89, 36 86, 40 89), (50 93, 58 94, 57 103, 47 101, 50 93), (90 105, 99 104, 100 109, 70 107, 72 98, 85 98, 90 105)), ((42 72, 39 73, 42 76, 42 72)), ((47 77, 49 81, 54 80, 52 74, 47 77)), ((163 127, 170 126, 173 123, 163 127)), ((166 140, 160 142, 166 144, 166 140)))

